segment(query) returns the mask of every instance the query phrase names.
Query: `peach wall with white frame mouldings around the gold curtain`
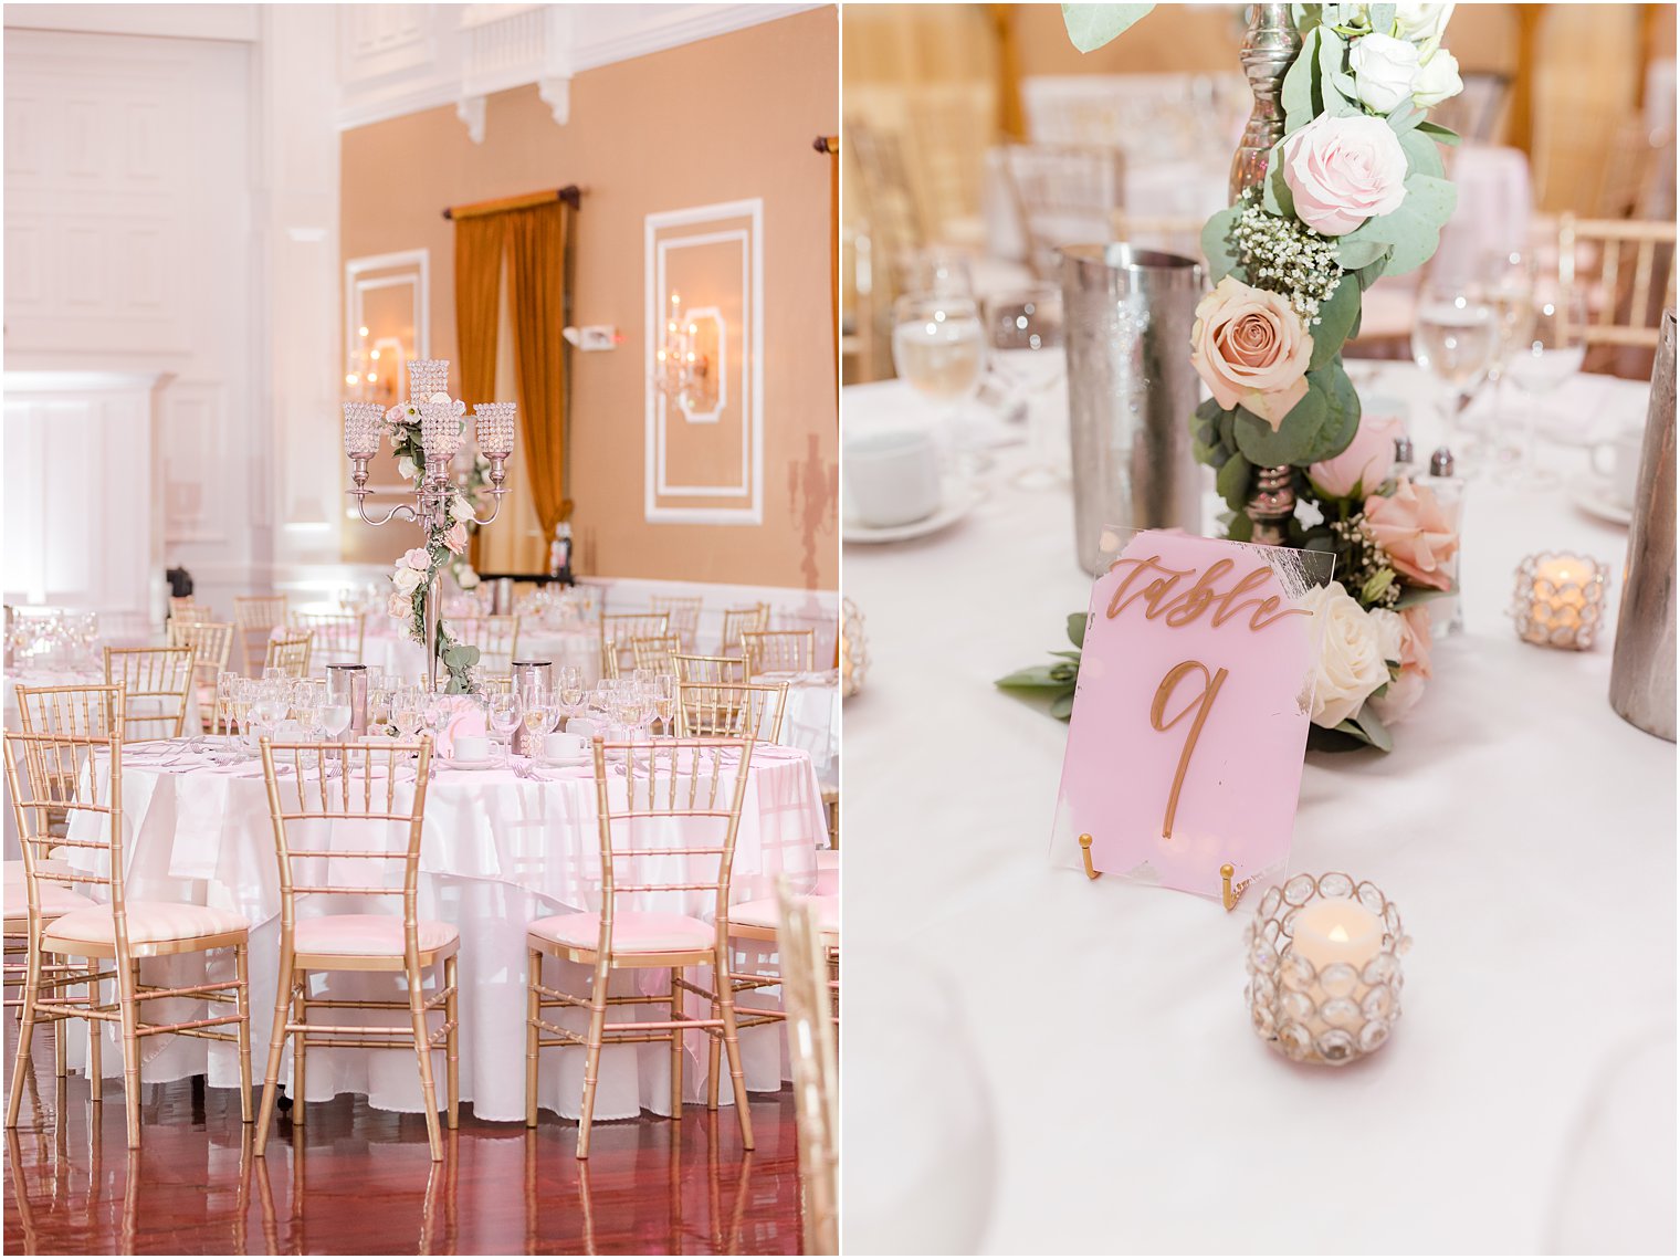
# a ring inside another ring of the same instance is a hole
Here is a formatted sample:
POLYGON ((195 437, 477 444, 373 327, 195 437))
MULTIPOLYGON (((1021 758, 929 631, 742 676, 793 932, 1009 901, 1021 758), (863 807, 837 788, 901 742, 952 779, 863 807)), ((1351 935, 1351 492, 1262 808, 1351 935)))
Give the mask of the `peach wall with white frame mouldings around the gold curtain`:
MULTIPOLYGON (((533 86, 489 99, 482 145, 452 108, 343 136, 344 259, 430 250, 437 358, 455 356, 454 227, 442 208, 585 188, 573 319, 617 324, 625 338, 571 355, 573 528, 588 575, 838 587, 837 503, 822 489, 838 461, 828 158, 811 150, 838 131, 837 59, 830 7, 585 71, 566 126, 533 86), (764 200, 764 523, 650 524, 643 219, 753 197, 764 200)), ((391 529, 348 526, 344 558, 383 563, 400 545, 410 543, 391 529)))

